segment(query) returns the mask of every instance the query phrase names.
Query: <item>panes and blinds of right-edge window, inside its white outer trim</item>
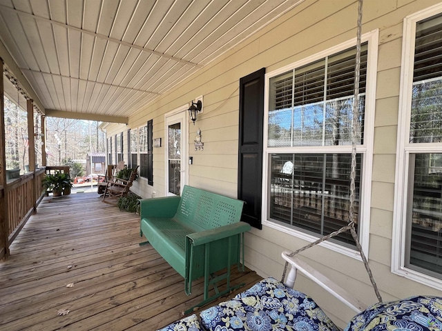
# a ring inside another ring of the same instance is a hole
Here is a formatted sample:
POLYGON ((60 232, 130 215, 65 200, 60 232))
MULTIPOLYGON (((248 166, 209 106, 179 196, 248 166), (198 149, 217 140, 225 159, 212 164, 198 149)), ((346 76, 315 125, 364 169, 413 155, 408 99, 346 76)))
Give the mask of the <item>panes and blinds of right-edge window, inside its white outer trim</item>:
POLYGON ((405 267, 442 279, 442 15, 415 37, 405 267))

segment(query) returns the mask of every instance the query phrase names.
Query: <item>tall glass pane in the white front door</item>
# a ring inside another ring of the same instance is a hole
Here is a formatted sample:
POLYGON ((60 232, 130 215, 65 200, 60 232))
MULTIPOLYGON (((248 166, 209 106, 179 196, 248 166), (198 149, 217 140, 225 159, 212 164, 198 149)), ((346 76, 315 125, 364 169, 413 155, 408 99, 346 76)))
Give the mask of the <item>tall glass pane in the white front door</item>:
POLYGON ((169 126, 169 192, 180 195, 181 190, 181 123, 169 126))

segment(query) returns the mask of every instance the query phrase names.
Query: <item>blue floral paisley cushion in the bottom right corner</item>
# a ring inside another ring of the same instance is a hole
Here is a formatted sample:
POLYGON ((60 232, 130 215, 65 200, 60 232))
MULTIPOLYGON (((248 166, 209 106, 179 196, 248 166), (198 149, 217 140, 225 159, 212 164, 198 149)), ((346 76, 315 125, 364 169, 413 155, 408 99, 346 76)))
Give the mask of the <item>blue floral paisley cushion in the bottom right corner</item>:
POLYGON ((442 298, 411 297, 376 303, 357 314, 345 331, 442 330, 442 298))

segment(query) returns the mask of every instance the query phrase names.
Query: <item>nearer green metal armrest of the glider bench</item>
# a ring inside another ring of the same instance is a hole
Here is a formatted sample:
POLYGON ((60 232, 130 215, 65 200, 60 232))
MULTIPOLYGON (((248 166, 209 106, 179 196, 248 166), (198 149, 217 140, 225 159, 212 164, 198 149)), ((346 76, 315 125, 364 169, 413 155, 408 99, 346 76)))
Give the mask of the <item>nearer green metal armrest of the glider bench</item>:
POLYGON ((247 232, 250 229, 251 226, 249 225, 249 223, 240 221, 238 223, 223 225, 219 228, 187 234, 187 237, 192 241, 194 246, 198 246, 219 239, 228 238, 236 234, 247 232))

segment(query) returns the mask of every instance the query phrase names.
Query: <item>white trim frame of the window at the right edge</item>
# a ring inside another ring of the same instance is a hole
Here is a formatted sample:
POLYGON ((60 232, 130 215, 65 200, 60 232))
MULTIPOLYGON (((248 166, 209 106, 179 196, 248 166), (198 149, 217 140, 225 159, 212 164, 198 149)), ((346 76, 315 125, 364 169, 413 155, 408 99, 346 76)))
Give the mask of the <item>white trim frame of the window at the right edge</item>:
POLYGON ((403 46, 401 63, 401 87, 398 114, 398 137, 396 150, 396 177, 394 192, 394 218, 392 234, 392 272, 424 285, 442 290, 442 280, 405 268, 406 201, 408 187, 409 156, 413 152, 442 152, 442 143, 410 143, 410 113, 412 103, 412 79, 414 69, 414 43, 416 23, 442 12, 442 3, 411 14, 403 23, 403 46))

